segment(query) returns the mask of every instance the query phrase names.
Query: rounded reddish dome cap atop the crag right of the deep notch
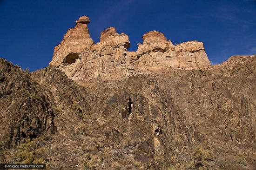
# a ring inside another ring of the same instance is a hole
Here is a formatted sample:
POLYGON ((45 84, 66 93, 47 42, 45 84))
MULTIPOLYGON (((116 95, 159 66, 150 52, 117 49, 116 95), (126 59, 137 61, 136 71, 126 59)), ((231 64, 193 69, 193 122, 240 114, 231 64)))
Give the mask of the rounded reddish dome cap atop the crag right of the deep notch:
POLYGON ((143 39, 143 43, 154 43, 154 42, 166 42, 167 41, 167 39, 163 35, 163 33, 160 33, 155 30, 145 33, 141 38, 143 39))

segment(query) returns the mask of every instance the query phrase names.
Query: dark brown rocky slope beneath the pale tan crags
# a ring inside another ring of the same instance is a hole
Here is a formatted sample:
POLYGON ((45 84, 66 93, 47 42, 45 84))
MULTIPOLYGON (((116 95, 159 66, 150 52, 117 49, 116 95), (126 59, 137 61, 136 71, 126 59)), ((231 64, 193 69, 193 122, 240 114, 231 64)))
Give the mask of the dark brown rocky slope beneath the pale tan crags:
POLYGON ((68 169, 253 170, 255 59, 236 56, 205 69, 76 83, 58 66, 29 73, 2 59, 0 135, 8 136, 2 146, 57 128, 44 143, 52 148, 46 157, 55 155, 53 169, 74 163, 68 169), (84 159, 94 164, 81 164, 84 159))

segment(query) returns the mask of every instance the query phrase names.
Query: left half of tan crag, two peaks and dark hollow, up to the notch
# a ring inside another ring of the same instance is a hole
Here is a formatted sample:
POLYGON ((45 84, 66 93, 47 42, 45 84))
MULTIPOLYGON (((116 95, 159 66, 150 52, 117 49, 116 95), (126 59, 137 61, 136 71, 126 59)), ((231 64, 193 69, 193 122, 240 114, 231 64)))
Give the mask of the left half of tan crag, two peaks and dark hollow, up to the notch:
POLYGON ((101 41, 94 44, 87 27, 89 22, 86 16, 76 21, 74 29, 69 29, 61 44, 55 47, 50 65, 59 66, 75 80, 124 78, 135 74, 134 65, 128 63, 128 36, 109 27, 101 32, 101 41))

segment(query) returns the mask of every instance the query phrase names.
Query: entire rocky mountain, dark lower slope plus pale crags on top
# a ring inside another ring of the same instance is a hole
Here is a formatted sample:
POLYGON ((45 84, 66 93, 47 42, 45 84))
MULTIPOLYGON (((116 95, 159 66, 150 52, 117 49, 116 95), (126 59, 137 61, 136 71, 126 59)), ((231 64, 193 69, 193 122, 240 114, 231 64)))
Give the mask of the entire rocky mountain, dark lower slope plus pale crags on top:
POLYGON ((76 21, 49 66, 0 59, 0 162, 51 170, 255 170, 256 55, 210 65, 201 42, 76 21), (14 150, 14 152, 13 152, 14 150))

